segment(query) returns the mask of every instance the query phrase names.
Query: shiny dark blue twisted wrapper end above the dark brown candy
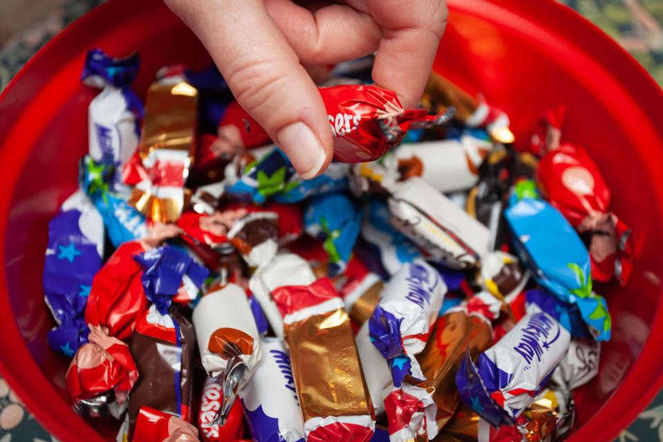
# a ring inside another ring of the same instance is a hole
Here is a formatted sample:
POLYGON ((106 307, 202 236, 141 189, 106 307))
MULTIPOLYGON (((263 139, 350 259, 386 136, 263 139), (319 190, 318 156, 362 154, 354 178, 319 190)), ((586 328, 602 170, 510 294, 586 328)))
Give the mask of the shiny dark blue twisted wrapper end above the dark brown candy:
POLYGON ((147 250, 133 259, 143 268, 140 279, 145 296, 162 315, 168 313, 171 300, 180 287, 187 295, 185 299, 193 300, 209 275, 207 268, 171 246, 147 250))

